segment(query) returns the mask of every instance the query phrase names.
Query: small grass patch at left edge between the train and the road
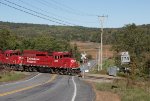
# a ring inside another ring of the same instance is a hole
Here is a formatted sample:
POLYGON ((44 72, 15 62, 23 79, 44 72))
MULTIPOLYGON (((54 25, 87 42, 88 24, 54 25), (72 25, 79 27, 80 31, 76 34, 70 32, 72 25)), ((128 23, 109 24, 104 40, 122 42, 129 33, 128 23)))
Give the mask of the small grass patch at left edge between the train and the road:
POLYGON ((0 82, 16 81, 25 77, 20 72, 0 72, 0 82))

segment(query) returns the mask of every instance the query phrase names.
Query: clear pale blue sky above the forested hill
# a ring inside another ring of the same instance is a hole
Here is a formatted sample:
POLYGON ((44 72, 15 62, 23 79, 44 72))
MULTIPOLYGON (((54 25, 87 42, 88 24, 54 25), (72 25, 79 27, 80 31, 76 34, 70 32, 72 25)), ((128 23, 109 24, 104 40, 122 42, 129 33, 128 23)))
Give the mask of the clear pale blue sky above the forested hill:
POLYGON ((119 28, 150 24, 150 0, 0 0, 0 21, 119 28))

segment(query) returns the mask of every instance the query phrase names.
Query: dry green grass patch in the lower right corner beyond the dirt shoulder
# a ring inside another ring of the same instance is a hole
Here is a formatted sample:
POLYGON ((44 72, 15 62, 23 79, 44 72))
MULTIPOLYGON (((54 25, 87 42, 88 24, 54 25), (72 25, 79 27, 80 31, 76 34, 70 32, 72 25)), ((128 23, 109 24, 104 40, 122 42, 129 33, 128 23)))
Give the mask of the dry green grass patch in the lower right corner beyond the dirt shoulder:
POLYGON ((143 86, 133 84, 127 87, 125 80, 117 80, 113 83, 97 83, 95 85, 97 90, 118 94, 121 97, 121 101, 150 100, 150 81, 145 81, 143 86))

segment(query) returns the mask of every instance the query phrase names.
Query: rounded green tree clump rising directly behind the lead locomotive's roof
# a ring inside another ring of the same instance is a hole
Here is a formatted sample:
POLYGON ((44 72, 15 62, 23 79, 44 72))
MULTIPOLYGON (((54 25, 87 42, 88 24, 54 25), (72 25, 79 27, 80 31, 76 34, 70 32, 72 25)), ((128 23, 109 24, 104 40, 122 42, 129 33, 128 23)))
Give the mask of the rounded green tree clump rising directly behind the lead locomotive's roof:
POLYGON ((41 51, 69 51, 71 49, 70 43, 50 35, 39 35, 33 39, 33 42, 34 49, 41 51))

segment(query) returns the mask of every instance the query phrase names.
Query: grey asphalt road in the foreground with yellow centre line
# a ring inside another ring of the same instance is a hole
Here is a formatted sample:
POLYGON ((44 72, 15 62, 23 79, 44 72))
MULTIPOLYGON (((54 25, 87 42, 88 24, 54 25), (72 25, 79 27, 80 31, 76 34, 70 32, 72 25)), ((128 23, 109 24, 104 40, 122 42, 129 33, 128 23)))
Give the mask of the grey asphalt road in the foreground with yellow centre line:
POLYGON ((0 85, 0 101, 93 100, 92 87, 76 76, 38 74, 25 81, 0 85))

